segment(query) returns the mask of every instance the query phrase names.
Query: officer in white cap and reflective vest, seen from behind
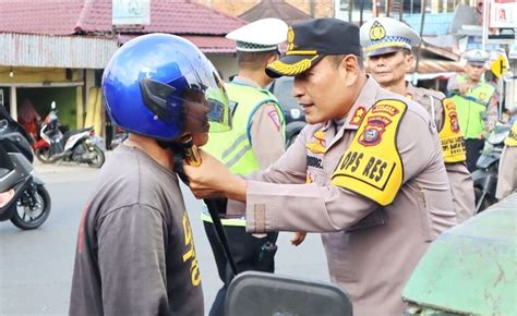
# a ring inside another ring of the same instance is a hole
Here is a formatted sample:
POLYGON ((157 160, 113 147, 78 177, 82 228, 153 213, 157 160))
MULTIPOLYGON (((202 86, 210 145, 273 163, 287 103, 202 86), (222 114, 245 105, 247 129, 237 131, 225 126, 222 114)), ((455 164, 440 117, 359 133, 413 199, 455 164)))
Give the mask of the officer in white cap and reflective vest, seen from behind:
MULTIPOLYGON (((226 37, 237 41, 238 75, 226 85, 232 111, 232 130, 211 134, 205 149, 236 174, 266 169, 285 153, 285 120, 276 97, 265 87, 273 81, 265 74, 268 63, 279 54, 278 45, 286 41, 287 24, 278 19, 263 19, 244 25, 226 37)), ((218 211, 225 212, 226 203, 218 211)), ((214 202, 208 207, 216 207, 214 202)), ((206 235, 224 282, 209 315, 224 315, 230 269, 207 211, 202 214, 206 235)), ((254 236, 245 232, 243 219, 223 219, 232 256, 239 272, 262 270, 274 272, 275 242, 278 232, 254 236), (261 254, 264 248, 267 254, 261 254)))

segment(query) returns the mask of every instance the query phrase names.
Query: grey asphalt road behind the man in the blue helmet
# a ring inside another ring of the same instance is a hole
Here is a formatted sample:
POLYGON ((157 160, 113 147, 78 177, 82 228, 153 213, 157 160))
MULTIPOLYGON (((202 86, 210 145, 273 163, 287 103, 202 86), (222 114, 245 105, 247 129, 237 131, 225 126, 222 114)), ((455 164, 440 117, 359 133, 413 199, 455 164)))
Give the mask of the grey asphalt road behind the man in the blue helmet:
MULTIPOLYGON (((109 158, 108 158, 109 159, 109 158)), ((41 166, 36 173, 47 183, 52 210, 39 229, 21 231, 0 222, 0 315, 65 315, 70 300, 74 247, 82 206, 95 185, 98 170, 72 165, 41 166)), ((220 287, 208 241, 200 220, 200 202, 187 187, 184 199, 194 232, 205 309, 220 287)), ((328 281, 318 234, 291 246, 292 233, 280 233, 276 271, 280 275, 328 281)))

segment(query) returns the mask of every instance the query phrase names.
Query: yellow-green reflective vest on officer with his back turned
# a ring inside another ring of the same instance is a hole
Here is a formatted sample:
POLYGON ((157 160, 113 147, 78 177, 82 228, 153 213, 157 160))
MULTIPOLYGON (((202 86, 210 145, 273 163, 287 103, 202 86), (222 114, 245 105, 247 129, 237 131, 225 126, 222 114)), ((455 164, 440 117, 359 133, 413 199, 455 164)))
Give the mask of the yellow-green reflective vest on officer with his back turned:
MULTIPOLYGON (((232 127, 224 133, 211 133, 208 143, 203 149, 223 161, 236 174, 249 174, 258 171, 261 166, 252 148, 251 121, 258 108, 269 102, 274 105, 280 120, 281 133, 286 135, 286 120, 278 105, 277 98, 266 89, 253 86, 230 83, 225 85, 231 106, 232 127)), ((203 220, 212 222, 207 212, 203 212, 203 220)), ((245 226, 243 220, 221 219, 224 226, 245 226)))

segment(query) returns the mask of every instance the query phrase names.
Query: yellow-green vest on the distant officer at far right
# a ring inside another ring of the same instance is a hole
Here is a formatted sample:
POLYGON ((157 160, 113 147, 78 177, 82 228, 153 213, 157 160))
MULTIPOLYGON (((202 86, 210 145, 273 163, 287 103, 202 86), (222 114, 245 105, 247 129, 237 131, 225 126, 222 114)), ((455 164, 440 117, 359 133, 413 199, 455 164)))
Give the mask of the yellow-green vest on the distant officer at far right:
POLYGON ((459 129, 464 133, 464 137, 478 139, 484 130, 483 113, 486 111, 486 107, 458 95, 450 99, 456 105, 459 129))

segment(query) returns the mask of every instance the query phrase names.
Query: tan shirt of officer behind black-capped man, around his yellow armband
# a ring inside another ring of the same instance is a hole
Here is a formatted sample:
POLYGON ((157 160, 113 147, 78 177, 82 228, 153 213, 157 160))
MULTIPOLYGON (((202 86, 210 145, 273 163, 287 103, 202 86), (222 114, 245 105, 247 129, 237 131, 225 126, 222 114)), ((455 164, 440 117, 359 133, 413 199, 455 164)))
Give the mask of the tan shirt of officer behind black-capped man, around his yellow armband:
MULTIPOLYGON (((444 125, 444 106, 442 100, 445 95, 408 84, 406 88, 408 97, 420 104, 431 116, 438 131, 444 125)), ((458 223, 469 219, 476 208, 473 193, 473 182, 465 162, 445 163, 450 192, 453 194, 454 210, 456 211, 458 223)))

